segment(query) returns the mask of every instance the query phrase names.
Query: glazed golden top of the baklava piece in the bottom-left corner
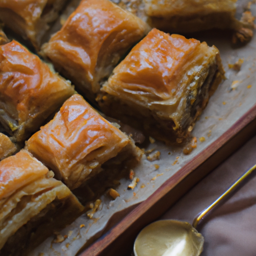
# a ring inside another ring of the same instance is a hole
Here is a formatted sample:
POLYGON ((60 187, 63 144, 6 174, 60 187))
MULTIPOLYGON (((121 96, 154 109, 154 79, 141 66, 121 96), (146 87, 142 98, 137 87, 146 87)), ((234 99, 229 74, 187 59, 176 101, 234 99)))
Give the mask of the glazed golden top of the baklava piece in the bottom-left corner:
POLYGON ((0 161, 0 200, 45 175, 48 169, 26 150, 0 161))

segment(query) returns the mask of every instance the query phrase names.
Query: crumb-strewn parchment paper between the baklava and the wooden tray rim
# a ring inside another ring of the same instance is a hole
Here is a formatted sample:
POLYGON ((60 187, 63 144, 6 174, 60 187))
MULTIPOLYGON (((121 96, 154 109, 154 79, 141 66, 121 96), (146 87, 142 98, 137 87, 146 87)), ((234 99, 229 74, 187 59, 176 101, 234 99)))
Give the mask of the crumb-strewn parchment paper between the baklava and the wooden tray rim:
MULTIPOLYGON (((238 0, 239 10, 248 2, 248 0, 238 0)), ((251 5, 251 11, 256 15, 256 4, 251 5)), ((122 179, 116 189, 120 194, 119 197, 111 200, 107 194, 101 196, 102 203, 92 219, 89 219, 86 214, 81 215, 60 232, 60 237, 64 239, 62 242, 53 242, 56 236, 52 235, 30 252, 29 256, 74 256, 84 244, 88 245, 103 233, 113 214, 119 213, 120 217, 124 216, 134 205, 145 200, 165 180, 220 137, 256 103, 254 75, 256 36, 239 48, 231 46, 230 36, 226 32, 210 31, 197 34, 195 38, 205 40, 209 45, 214 44, 219 49, 226 71, 226 79, 210 98, 192 131, 192 135, 197 138, 197 148, 189 155, 184 155, 182 147, 166 146, 158 141, 150 143, 145 149, 154 149, 152 153, 159 151, 160 159, 148 161, 146 155, 143 155, 140 165, 134 169, 139 182, 133 190, 127 189, 130 180, 122 179), (241 69, 239 71, 229 69, 228 64, 233 64, 239 58, 243 59, 241 69), (205 140, 200 142, 199 138, 202 140, 202 137, 205 140)))

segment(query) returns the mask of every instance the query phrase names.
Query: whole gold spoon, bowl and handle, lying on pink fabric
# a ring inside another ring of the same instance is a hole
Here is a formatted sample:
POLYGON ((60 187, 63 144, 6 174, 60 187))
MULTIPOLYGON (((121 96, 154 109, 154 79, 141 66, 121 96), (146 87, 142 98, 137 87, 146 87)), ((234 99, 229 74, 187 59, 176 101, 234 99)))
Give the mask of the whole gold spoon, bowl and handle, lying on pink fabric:
POLYGON ((222 195, 197 214, 193 224, 166 219, 144 227, 134 242, 135 256, 198 256, 203 249, 203 236, 195 229, 220 203, 229 198, 238 186, 256 169, 256 164, 245 171, 222 195))

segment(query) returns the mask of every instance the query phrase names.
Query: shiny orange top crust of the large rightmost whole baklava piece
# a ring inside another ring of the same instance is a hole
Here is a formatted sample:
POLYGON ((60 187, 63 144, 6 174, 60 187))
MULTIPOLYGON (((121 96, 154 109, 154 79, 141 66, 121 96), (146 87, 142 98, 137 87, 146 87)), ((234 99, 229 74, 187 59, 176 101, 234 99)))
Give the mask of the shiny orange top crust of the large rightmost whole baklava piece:
POLYGON ((154 28, 113 70, 109 84, 118 87, 121 83, 120 90, 168 99, 179 89, 185 64, 199 44, 198 40, 154 28))

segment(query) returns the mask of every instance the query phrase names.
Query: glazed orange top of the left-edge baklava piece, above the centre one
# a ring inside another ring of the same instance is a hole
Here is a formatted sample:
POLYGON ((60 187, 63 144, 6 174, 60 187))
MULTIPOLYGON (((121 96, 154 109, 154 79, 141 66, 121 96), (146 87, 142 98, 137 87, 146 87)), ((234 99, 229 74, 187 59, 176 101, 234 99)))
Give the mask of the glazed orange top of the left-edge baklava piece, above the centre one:
POLYGON ((18 124, 46 109, 53 112, 73 92, 67 81, 18 42, 0 45, 0 100, 18 124))

